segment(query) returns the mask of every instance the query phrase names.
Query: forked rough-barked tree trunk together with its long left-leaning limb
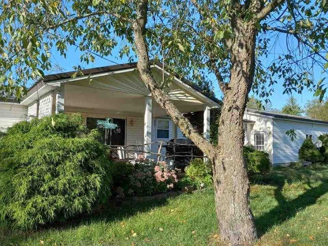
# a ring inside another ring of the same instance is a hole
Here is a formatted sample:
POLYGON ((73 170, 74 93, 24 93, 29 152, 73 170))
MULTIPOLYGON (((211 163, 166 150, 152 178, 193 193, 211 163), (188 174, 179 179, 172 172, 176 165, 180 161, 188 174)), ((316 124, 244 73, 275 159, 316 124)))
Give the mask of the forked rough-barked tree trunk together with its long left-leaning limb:
POLYGON ((221 109, 218 146, 214 147, 179 112, 151 74, 144 33, 147 5, 147 0, 138 1, 137 19, 132 24, 140 77, 156 102, 166 110, 175 124, 212 160, 216 213, 221 238, 233 246, 251 245, 257 236, 249 207, 249 180, 243 158, 242 118, 254 76, 256 26, 251 22, 243 23, 239 19, 232 19, 235 36, 231 45, 231 78, 221 109))

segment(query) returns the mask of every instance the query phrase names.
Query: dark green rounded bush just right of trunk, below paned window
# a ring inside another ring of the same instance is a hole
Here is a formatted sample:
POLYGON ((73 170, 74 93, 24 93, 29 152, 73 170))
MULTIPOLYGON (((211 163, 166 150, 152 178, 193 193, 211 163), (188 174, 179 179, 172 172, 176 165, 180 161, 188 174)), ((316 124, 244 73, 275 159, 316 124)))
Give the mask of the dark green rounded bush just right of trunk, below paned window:
POLYGON ((253 146, 244 146, 243 153, 248 174, 264 174, 270 171, 272 165, 267 152, 256 150, 253 146))

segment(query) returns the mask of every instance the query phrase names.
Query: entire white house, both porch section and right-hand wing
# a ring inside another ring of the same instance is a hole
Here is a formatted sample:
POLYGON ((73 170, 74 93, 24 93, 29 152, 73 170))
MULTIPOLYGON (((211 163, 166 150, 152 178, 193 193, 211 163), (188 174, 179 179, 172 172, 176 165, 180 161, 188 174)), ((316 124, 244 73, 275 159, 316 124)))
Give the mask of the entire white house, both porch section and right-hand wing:
MULTIPOLYGON (((161 64, 151 67, 160 83, 161 64)), ((0 131, 21 120, 42 118, 58 112, 80 113, 89 128, 96 128, 98 119, 112 118, 118 128, 104 131, 108 145, 133 146, 133 150, 155 153, 159 140, 185 138, 167 113, 151 97, 136 70, 136 63, 114 65, 81 71, 47 75, 37 81, 20 103, 13 98, 0 102, 0 131), (92 79, 92 80, 90 80, 92 79)), ((164 73, 165 76, 169 74, 164 73)), ((203 112, 203 135, 210 138, 210 109, 220 101, 200 92, 188 81, 174 77, 168 91, 180 112, 203 112)), ((305 138, 317 139, 328 132, 328 122, 295 115, 247 109, 244 113, 245 145, 270 154, 274 165, 298 160, 298 150, 305 138), (294 129, 296 139, 286 131, 294 129)), ((232 139, 233 140, 233 139, 232 139)), ((131 149, 131 150, 132 150, 131 149)), ((165 152, 165 149, 162 150, 165 152)))

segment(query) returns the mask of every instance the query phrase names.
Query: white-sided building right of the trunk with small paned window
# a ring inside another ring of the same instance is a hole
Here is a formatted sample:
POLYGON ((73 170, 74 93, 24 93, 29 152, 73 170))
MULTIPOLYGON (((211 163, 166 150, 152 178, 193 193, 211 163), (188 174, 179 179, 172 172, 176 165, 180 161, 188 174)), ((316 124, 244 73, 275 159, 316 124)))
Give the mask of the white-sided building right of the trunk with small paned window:
POLYGON ((246 109, 244 113, 245 145, 270 154, 274 166, 298 161, 298 150, 305 138, 315 141, 328 133, 328 122, 302 116, 246 109), (286 131, 294 129, 292 141, 286 131))

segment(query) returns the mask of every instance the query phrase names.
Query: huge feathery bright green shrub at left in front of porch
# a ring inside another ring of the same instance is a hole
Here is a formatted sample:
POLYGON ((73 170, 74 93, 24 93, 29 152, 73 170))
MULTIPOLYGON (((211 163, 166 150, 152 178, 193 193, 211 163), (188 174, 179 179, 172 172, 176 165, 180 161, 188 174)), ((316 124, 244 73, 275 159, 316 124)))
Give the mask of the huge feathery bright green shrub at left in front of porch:
POLYGON ((0 218, 22 229, 88 212, 110 196, 111 163, 80 115, 23 121, 0 139, 0 218))

